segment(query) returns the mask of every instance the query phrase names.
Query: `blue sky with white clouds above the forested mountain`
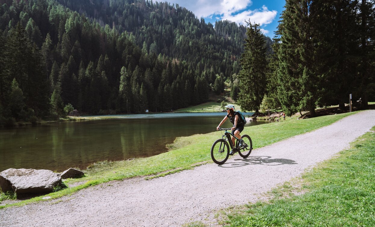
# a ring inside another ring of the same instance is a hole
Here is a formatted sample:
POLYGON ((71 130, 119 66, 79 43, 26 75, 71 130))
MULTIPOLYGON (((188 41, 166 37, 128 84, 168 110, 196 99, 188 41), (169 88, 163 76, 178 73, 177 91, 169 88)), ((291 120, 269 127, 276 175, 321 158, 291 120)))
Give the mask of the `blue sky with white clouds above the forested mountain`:
MULTIPOLYGON (((167 0, 168 1, 168 0, 167 0)), ((205 22, 228 19, 238 24, 259 23, 266 36, 274 36, 285 0, 169 0, 186 7, 205 22)))

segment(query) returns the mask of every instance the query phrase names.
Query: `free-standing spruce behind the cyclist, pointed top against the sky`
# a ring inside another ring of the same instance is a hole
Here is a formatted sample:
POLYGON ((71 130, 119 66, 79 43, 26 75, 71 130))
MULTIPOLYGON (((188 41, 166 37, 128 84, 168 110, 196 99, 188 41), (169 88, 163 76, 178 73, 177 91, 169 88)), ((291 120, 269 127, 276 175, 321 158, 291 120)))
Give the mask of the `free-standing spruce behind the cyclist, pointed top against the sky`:
POLYGON ((241 55, 242 70, 238 75, 240 93, 237 102, 243 111, 255 110, 258 113, 267 86, 266 42, 259 24, 247 22, 246 35, 245 52, 241 55))

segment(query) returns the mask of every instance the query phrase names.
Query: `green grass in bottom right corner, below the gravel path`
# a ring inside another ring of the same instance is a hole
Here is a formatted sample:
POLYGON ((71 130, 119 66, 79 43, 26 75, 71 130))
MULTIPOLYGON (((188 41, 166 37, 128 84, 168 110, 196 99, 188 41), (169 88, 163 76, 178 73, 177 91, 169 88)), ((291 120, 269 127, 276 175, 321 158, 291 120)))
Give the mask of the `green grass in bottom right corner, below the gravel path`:
MULTIPOLYGON (((375 127, 372 128, 375 130, 375 127)), ((273 190, 273 199, 231 212, 228 226, 375 226, 375 133, 273 190), (306 191, 294 196, 293 190, 306 191), (285 196, 285 194, 288 194, 285 196)))

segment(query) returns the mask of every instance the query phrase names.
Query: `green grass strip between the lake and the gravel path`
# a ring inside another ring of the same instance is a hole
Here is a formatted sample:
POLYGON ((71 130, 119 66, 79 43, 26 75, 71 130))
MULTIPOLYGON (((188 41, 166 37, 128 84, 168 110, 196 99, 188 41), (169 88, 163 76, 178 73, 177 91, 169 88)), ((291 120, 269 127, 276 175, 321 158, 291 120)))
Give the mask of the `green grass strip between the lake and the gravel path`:
MULTIPOLYGON (((254 148, 260 148, 332 124, 351 114, 353 114, 353 112, 298 121, 255 125, 246 127, 243 134, 251 136, 254 148)), ((50 196, 51 199, 55 199, 103 182, 122 180, 136 176, 152 178, 153 176, 162 176, 164 173, 168 172, 173 173, 175 170, 179 171, 178 169, 189 169, 202 162, 210 162, 211 145, 216 139, 221 138, 221 135, 221 132, 215 131, 208 134, 178 137, 173 144, 168 145, 170 151, 163 154, 148 158, 135 158, 115 162, 104 161, 93 164, 89 166, 88 169, 84 170, 85 176, 83 178, 64 181, 67 185, 77 184, 77 182, 82 182, 82 184, 50 193, 48 196, 50 196)), ((43 200, 42 198, 45 196, 46 195, 35 197, 11 205, 3 205, 0 206, 0 209, 40 201, 43 200)))

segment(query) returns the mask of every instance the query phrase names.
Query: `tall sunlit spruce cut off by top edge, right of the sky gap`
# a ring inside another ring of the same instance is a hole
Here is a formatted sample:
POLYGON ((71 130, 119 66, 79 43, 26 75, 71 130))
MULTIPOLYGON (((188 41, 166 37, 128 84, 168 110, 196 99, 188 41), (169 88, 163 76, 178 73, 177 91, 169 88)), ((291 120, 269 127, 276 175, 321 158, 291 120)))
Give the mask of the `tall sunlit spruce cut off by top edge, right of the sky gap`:
MULTIPOLYGON (((287 115, 308 110, 311 116, 315 116, 315 108, 324 90, 321 66, 317 61, 323 52, 318 51, 319 44, 314 43, 318 38, 319 16, 311 0, 286 1, 278 26, 277 43, 273 45, 278 59, 273 63, 278 64, 278 97, 287 115)), ((325 22, 320 23, 324 25, 325 22)))

